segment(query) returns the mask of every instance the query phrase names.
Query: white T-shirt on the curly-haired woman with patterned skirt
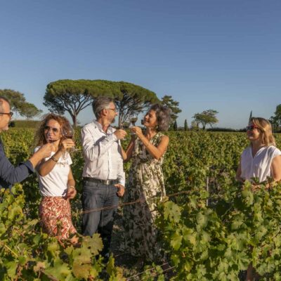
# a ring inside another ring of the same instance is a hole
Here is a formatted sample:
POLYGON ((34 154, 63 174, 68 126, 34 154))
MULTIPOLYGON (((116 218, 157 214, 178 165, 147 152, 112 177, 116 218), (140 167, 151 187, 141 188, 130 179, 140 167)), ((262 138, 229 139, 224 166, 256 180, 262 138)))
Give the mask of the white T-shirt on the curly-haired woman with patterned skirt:
MULTIPOLYGON (((34 152, 39 150, 39 147, 34 149, 34 152)), ((50 159, 55 152, 51 152, 50 157, 46 157, 45 160, 50 159)), ((39 188, 41 195, 43 196, 65 196, 67 193, 67 181, 68 174, 70 174, 70 165, 72 159, 68 152, 60 156, 58 162, 53 169, 46 176, 40 176, 37 173, 39 179, 39 188)))

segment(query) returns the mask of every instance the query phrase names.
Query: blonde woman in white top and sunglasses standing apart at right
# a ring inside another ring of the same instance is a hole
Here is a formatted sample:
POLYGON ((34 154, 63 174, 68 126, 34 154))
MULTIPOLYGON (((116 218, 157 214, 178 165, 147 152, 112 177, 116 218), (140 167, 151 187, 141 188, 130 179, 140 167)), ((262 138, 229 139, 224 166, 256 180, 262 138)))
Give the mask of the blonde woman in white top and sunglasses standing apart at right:
MULTIPOLYGON (((256 178, 261 183, 268 177, 280 181, 281 151, 275 147, 270 123, 261 117, 252 117, 246 129, 250 145, 242 152, 236 173, 237 181, 244 183, 256 178)), ((255 277, 254 268, 249 265, 246 280, 255 280, 255 277)))

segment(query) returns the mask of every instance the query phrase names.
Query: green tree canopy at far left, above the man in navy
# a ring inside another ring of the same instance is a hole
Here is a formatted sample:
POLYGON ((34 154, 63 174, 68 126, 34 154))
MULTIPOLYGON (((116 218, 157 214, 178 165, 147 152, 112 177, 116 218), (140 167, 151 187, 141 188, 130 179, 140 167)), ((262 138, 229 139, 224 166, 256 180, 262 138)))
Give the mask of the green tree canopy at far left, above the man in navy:
POLYGON ((27 119, 36 117, 42 112, 42 110, 39 110, 33 103, 27 103, 24 94, 19 91, 11 89, 0 90, 0 96, 4 96, 9 100, 11 111, 27 119))

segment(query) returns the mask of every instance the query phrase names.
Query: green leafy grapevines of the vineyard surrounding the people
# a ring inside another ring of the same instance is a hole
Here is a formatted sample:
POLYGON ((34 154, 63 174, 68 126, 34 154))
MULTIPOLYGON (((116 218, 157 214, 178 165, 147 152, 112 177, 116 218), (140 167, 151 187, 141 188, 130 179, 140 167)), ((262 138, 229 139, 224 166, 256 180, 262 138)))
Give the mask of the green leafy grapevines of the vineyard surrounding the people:
MULTIPOLYGON (((33 150, 32 129, 10 129, 1 134, 13 164, 33 150)), ((281 184, 270 183, 256 192, 242 187, 235 173, 248 141, 244 133, 169 132, 163 171, 166 201, 159 203, 157 225, 173 280, 239 280, 249 263, 261 280, 281 280, 281 184)), ((79 133, 77 132, 77 136, 79 133)), ((275 136, 277 147, 281 137, 275 136)), ((123 141, 124 148, 129 142, 123 141)), ((83 157, 72 155, 77 197, 72 218, 81 225, 83 157)), ((126 163, 125 170, 129 170, 126 163)), ((268 179, 270 181, 270 179, 268 179)), ((35 175, 11 192, 0 193, 0 280, 129 280, 111 257, 98 256, 98 235, 81 237, 79 247, 41 233, 38 223, 39 188, 35 175)), ((161 270, 160 270, 161 271, 161 270)), ((134 280, 164 280, 164 273, 143 273, 134 280)), ((133 279, 131 279, 133 280, 133 279)))

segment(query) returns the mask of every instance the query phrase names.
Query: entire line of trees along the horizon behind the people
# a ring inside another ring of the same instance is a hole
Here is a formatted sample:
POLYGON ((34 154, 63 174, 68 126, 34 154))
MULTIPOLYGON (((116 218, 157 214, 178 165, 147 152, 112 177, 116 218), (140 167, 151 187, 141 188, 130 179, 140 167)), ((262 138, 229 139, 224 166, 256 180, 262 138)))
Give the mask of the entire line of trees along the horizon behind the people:
MULTIPOLYGON (((0 90, 0 96, 8 98, 11 101, 11 110, 27 120, 38 117, 42 113, 42 110, 25 100, 23 93, 4 89, 0 90)), ((162 103, 171 109, 170 130, 239 131, 228 128, 214 128, 214 124, 218 123, 218 111, 212 109, 195 113, 192 116, 190 126, 188 126, 187 119, 185 119, 183 126, 178 126, 178 114, 182 111, 179 108, 178 101, 168 95, 159 99, 153 91, 126 81, 85 79, 53 81, 46 86, 44 105, 51 112, 60 115, 68 112, 74 126, 76 126, 79 113, 91 105, 98 96, 114 98, 119 111, 118 126, 128 123, 130 115, 148 110, 153 103, 162 103), (207 126, 210 128, 207 129, 207 126)), ((270 122, 274 131, 281 131, 281 105, 277 105, 274 115, 270 117, 270 122)), ((243 131, 243 129, 240 131, 243 131)))

